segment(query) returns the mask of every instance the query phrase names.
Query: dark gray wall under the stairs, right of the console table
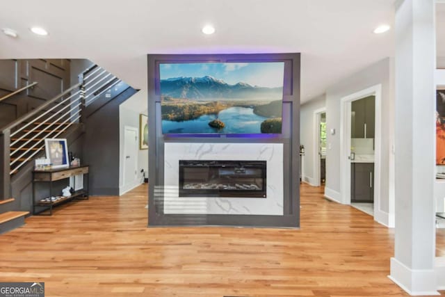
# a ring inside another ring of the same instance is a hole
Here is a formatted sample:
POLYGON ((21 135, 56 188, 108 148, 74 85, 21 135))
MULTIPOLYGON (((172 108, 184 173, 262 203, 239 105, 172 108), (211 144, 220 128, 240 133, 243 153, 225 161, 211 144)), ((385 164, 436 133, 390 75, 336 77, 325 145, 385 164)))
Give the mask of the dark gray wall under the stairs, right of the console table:
POLYGON ((81 163, 90 166, 90 195, 119 195, 119 105, 136 92, 129 87, 86 108, 81 163))

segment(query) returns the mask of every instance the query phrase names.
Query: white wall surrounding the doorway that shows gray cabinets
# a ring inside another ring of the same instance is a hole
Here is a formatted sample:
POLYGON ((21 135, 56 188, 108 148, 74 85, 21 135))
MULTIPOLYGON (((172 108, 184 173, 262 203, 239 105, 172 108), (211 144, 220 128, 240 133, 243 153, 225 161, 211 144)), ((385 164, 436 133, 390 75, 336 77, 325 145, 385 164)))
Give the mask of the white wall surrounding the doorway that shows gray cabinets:
POLYGON ((378 84, 382 85, 382 141, 381 141, 381 180, 380 180, 380 207, 388 216, 394 210, 389 204, 391 188, 389 180, 391 167, 394 168, 394 159, 391 156, 391 147, 394 145, 394 58, 385 58, 373 63, 350 77, 347 77, 326 90, 326 129, 335 129, 337 132, 327 134, 326 152, 326 186, 325 195, 334 200, 341 201, 341 152, 340 152, 340 122, 341 99, 360 90, 378 84))

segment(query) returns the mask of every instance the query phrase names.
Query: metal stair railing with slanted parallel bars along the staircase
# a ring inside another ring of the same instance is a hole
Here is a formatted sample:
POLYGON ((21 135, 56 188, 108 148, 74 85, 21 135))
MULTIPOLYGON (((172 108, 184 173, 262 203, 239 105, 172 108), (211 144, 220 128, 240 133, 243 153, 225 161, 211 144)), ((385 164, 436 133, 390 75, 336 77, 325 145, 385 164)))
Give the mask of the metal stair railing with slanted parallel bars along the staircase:
MULTIPOLYGON (((0 200, 9 195, 10 175, 44 149, 44 138, 56 138, 74 123, 81 122, 86 106, 117 83, 120 79, 94 65, 79 74, 79 83, 3 127, 0 130, 0 200)), ((15 93, 19 91, 22 90, 15 93)))

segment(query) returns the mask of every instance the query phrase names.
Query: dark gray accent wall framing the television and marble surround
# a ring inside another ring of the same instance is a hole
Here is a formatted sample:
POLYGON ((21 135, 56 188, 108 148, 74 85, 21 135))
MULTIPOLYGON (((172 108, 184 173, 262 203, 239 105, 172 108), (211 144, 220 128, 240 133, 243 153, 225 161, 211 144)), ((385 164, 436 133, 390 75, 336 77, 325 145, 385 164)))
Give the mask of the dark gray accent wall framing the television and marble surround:
POLYGON ((149 226, 162 225, 232 225, 256 227, 300 226, 300 54, 221 54, 221 55, 148 55, 149 118, 149 226), (161 133, 160 63, 261 62, 284 61, 282 134, 264 138, 172 137, 161 133), (282 143, 284 146, 283 216, 228 214, 163 214, 164 145, 185 143, 282 143))

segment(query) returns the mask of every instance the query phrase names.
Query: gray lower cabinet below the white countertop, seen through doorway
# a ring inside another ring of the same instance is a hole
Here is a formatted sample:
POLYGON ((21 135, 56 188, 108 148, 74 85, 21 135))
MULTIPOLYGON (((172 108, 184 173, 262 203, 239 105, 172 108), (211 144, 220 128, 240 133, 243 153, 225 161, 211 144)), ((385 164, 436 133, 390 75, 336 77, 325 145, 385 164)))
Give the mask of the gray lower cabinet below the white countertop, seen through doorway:
POLYGON ((351 202, 374 201, 374 163, 351 163, 351 202))

